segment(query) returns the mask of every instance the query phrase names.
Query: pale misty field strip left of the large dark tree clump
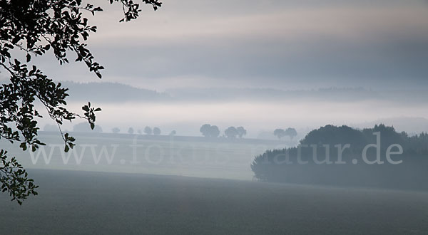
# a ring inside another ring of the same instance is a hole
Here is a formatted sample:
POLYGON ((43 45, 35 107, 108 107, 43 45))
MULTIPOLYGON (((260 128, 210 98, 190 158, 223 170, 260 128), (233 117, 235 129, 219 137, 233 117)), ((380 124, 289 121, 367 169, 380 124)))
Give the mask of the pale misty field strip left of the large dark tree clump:
POLYGON ((205 137, 168 137, 112 133, 72 133, 76 147, 63 152, 58 132, 41 132, 46 143, 36 152, 23 152, 1 141, 0 147, 17 156, 27 169, 67 169, 96 172, 171 174, 223 179, 253 178, 250 164, 256 155, 284 142, 205 137))

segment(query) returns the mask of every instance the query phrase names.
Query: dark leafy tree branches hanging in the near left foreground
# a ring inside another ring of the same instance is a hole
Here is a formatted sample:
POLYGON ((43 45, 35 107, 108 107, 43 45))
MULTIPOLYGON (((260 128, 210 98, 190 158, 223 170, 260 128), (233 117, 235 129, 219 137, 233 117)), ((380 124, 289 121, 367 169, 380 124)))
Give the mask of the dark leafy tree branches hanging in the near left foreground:
MULTIPOLYGON (((121 21, 136 19, 141 11, 134 0, 108 2, 122 5, 121 21)), ((142 2, 155 10, 161 6, 158 0, 142 2)), ((0 87, 0 138, 18 142, 22 150, 36 151, 44 145, 37 138, 37 119, 41 115, 35 103, 44 105, 58 125, 66 152, 74 146, 75 139, 62 132, 64 121, 81 117, 88 120, 92 129, 95 127, 95 113, 101 109, 88 103, 82 107, 83 114, 69 111, 66 108, 68 89, 48 78, 33 58, 53 51, 62 65, 68 63, 69 54, 73 53, 73 60, 83 61, 89 71, 101 78, 103 66, 95 61, 84 43, 90 33, 96 32, 96 26, 88 24, 82 15, 83 12, 95 15, 98 11, 102 9, 83 4, 81 0, 0 0, 0 72, 9 74, 10 80, 0 87), (21 58, 25 58, 24 61, 21 58)), ((0 162, 2 192, 8 192, 19 204, 29 195, 37 194, 37 186, 15 157, 10 158, 6 151, 0 150, 0 162)))

